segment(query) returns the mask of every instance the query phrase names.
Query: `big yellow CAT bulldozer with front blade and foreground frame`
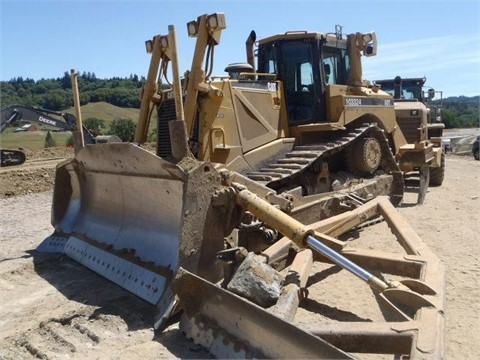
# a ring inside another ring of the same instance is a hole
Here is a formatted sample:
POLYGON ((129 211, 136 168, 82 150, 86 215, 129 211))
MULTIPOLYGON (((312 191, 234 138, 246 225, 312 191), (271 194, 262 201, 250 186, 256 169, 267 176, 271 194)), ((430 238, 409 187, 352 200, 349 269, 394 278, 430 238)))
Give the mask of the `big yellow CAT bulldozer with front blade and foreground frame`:
POLYGON ((217 357, 438 358, 444 269, 392 204, 411 171, 423 201, 441 149, 409 144, 393 98, 362 80, 375 33, 337 27, 257 41, 251 32, 247 62, 214 77, 225 28, 222 13, 187 24, 196 45, 183 79, 175 27, 146 42, 134 143, 86 145, 59 164, 55 232, 39 250, 63 252, 155 305, 157 329, 183 311, 182 329, 217 357), (141 146, 153 113, 156 153, 141 146), (338 239, 380 218, 403 253, 353 251, 338 239), (317 263, 362 280, 384 319, 296 324, 317 263), (232 285, 259 273, 278 280, 259 280, 277 284, 276 295, 232 285))

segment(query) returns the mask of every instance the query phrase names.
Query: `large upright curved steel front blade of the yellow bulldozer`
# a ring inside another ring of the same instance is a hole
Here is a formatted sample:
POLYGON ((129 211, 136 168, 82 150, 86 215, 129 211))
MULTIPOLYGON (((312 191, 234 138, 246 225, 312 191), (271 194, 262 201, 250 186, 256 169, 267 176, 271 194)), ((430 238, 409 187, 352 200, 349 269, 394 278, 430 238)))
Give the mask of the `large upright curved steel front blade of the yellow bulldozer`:
POLYGON ((223 249, 220 217, 207 220, 219 181, 211 164, 195 159, 173 164, 129 143, 87 145, 57 167, 55 232, 38 250, 63 252, 160 303, 161 315, 172 306, 166 289, 179 266, 208 279, 218 276, 203 257, 223 249))

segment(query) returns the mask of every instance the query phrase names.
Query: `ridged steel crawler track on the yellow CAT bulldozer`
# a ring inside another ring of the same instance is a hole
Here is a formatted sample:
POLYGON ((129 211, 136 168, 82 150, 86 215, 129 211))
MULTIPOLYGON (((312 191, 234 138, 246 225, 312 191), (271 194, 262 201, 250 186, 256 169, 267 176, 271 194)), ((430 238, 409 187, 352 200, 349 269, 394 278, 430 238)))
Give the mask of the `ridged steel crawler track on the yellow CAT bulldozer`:
POLYGON ((395 186, 395 189, 392 189, 392 195, 403 196, 403 179, 400 168, 388 146, 384 131, 376 124, 363 124, 363 126, 354 130, 339 132, 334 139, 320 140, 316 144, 295 146, 282 158, 274 160, 274 162, 263 166, 258 171, 249 172, 246 176, 272 189, 282 189, 289 184, 298 183, 297 179, 305 174, 314 163, 346 150, 355 141, 365 137, 373 137, 378 141, 382 154, 379 168, 386 173, 397 175, 394 181, 401 184, 399 183, 395 186))

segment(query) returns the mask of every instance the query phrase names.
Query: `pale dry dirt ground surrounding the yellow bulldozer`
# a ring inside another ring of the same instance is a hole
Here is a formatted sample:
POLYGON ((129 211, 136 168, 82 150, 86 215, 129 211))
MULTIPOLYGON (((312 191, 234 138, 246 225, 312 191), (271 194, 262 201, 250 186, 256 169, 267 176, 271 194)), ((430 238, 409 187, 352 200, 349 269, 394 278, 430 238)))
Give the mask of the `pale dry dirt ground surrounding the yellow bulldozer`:
MULTIPOLYGON (((27 151, 27 163, 0 169, 0 359, 211 358, 178 323, 155 333, 153 306, 65 256, 35 252, 52 233, 54 166, 71 155, 27 151)), ((445 358, 477 359, 480 162, 448 155, 443 186, 431 188, 422 206, 415 197, 407 193, 398 210, 447 269, 445 358)), ((363 232, 371 248, 391 236, 385 223, 363 232)), ((340 290, 355 296, 350 285, 340 290)), ((332 307, 362 306, 323 296, 332 307)))

